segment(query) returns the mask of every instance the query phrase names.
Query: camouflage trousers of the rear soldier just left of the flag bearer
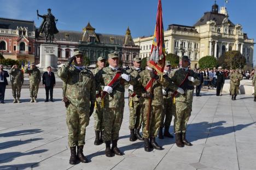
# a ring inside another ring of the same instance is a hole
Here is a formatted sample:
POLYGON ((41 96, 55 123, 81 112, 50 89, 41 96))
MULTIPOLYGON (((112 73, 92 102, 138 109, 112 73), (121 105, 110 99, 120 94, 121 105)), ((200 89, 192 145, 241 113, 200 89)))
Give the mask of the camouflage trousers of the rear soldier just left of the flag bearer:
POLYGON ((129 129, 141 129, 141 125, 142 125, 141 102, 133 101, 132 98, 129 97, 129 110, 130 110, 129 129))

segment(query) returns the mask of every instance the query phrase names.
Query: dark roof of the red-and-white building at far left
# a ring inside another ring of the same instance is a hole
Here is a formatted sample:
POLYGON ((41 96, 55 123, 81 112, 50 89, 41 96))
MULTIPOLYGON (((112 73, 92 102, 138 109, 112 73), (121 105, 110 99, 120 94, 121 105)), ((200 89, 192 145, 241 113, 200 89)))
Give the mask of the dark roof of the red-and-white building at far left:
POLYGON ((17 27, 26 27, 28 31, 31 32, 35 30, 34 21, 6 19, 0 17, 0 28, 16 30, 17 27))

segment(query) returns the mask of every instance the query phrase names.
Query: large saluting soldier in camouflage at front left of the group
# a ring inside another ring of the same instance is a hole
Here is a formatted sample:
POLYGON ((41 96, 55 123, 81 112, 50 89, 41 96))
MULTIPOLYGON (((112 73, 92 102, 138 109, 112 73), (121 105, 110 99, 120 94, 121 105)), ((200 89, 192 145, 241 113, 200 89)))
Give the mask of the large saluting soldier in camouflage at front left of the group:
POLYGON ((78 163, 78 159, 86 163, 88 160, 83 154, 83 148, 86 126, 89 124, 96 100, 95 78, 84 66, 82 51, 75 51, 74 56, 58 70, 57 75, 66 84, 63 100, 67 110, 68 145, 71 150, 69 163, 74 165, 78 163), (73 60, 74 65, 71 65, 73 60))

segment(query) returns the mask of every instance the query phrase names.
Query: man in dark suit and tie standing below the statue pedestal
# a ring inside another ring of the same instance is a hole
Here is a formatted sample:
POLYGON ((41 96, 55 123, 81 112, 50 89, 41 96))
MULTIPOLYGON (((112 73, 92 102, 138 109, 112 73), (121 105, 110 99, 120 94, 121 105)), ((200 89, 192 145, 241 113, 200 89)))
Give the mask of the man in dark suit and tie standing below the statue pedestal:
POLYGON ((45 102, 49 101, 49 91, 50 91, 50 101, 53 102, 53 88, 55 86, 55 76, 54 72, 51 72, 51 67, 47 67, 47 71, 43 74, 43 85, 46 92, 45 102))

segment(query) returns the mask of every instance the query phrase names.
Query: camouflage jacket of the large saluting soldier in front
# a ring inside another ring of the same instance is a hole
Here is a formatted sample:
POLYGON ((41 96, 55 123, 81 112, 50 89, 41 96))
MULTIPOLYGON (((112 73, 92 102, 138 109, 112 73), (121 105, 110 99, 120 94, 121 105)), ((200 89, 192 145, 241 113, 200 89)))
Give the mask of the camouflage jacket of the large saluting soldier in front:
POLYGON ((65 96, 77 108, 90 109, 90 102, 94 103, 96 98, 95 78, 90 70, 84 68, 79 70, 66 63, 57 72, 57 75, 65 82, 63 90, 65 96))

